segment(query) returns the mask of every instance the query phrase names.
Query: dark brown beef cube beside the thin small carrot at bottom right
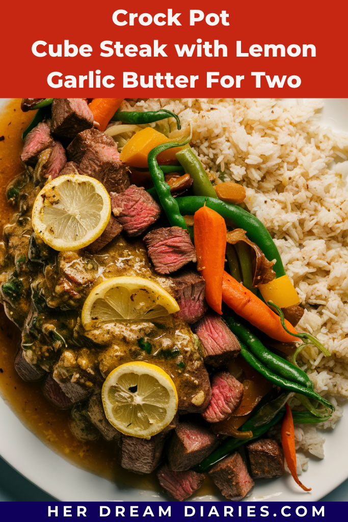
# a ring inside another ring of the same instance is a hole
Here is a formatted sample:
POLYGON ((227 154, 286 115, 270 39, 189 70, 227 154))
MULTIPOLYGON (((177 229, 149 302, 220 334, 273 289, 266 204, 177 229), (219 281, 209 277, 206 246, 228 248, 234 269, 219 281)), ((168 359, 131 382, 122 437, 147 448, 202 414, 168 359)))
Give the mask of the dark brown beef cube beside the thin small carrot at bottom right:
POLYGON ((284 473, 283 451, 273 438, 260 438, 246 447, 253 479, 281 477, 284 473))

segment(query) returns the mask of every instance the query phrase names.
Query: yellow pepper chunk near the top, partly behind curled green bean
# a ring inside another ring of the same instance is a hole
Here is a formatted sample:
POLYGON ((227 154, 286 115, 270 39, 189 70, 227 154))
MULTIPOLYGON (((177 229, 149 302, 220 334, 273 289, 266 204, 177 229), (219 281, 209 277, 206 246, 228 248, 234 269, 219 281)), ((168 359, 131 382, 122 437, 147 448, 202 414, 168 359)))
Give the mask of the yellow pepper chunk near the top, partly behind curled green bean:
MULTIPOLYGON (((123 147, 119 159, 129 167, 146 168, 148 166, 148 153, 158 145, 169 143, 164 134, 155 131, 152 127, 145 127, 137 132, 123 147)), ((164 150, 158 155, 158 162, 176 160, 176 152, 182 147, 173 147, 164 150)))

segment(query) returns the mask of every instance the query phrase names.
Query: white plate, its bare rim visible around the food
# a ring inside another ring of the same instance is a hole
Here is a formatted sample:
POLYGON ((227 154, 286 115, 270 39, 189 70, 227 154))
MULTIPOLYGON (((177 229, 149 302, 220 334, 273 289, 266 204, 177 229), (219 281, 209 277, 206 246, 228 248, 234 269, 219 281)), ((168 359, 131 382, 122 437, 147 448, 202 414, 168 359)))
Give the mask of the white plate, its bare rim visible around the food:
MULTIPOLYGON (((0 108, 6 99, 0 99, 0 108)), ((305 102, 305 100, 304 100, 305 102)), ((328 99, 322 111, 324 124, 335 130, 348 132, 348 99, 328 99)), ((0 398, 0 454, 19 473, 56 499, 61 501, 160 501, 168 500, 153 491, 139 491, 102 479, 70 464, 45 446, 28 431, 0 398)), ((311 487, 302 491, 289 474, 281 479, 259 480, 248 501, 282 502, 317 501, 348 478, 348 452, 342 450, 348 432, 348 408, 333 431, 325 431, 325 459, 311 458, 308 471, 301 480, 311 487)), ((195 497, 200 500, 221 501, 224 497, 195 497)))

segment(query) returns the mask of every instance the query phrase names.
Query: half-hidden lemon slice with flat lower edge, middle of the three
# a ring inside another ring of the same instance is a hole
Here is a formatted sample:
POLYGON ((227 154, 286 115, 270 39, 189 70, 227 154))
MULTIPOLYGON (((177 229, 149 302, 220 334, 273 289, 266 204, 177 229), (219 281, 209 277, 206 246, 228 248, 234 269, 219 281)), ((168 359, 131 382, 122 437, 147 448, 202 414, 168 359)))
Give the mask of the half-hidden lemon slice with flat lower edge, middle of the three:
POLYGON ((179 310, 158 283, 143 277, 112 277, 98 284, 85 301, 82 324, 86 330, 117 321, 151 321, 179 310))

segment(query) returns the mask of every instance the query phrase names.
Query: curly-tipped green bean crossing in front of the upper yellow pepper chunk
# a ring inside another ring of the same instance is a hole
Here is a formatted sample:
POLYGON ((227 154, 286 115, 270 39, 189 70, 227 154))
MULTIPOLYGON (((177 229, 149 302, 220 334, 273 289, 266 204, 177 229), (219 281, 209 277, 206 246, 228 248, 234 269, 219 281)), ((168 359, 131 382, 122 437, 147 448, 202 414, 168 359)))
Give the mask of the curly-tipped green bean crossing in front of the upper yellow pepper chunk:
MULTIPOLYGON (((159 164, 157 163, 157 156, 163 150, 171 149, 172 147, 180 147, 182 145, 186 145, 192 137, 192 133, 185 139, 182 143, 178 141, 171 141, 170 143, 163 143, 162 145, 158 145, 154 149, 150 150, 148 154, 148 165, 152 178, 152 182, 154 184, 154 188, 156 189, 158 198, 162 205, 162 208, 169 219, 169 222, 172 227, 181 227, 183 229, 187 229, 185 219, 181 215, 179 211, 178 204, 176 199, 171 195, 171 187, 164 180, 164 174, 159 164)), ((150 191, 148 191, 150 192, 150 191)))

